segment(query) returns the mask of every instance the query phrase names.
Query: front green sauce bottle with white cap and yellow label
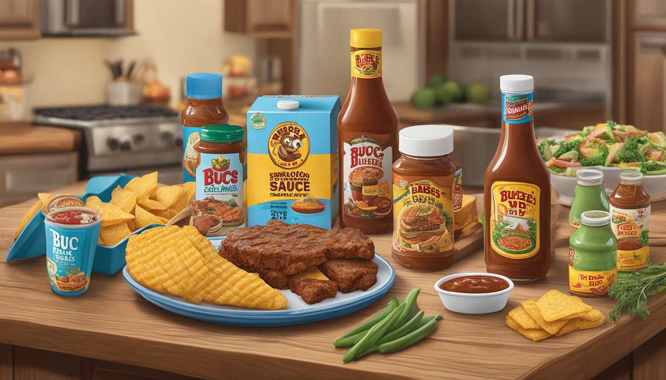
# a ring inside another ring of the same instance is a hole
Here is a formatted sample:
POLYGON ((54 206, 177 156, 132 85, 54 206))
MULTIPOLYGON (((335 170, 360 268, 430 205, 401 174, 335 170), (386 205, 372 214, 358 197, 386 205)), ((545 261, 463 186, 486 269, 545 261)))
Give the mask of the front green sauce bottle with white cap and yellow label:
POLYGON ((617 279, 617 238, 607 211, 585 211, 569 238, 569 293, 604 297, 617 279))

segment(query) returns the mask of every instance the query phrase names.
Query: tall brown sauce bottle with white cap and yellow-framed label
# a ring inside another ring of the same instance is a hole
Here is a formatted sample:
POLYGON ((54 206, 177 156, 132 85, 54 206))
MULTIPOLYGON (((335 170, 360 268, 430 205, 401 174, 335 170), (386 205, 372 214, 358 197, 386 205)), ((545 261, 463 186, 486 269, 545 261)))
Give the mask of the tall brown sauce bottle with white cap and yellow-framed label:
POLYGON ((533 77, 504 75, 500 89, 500 145, 484 181, 486 268, 527 282, 550 268, 550 176, 534 139, 533 77))

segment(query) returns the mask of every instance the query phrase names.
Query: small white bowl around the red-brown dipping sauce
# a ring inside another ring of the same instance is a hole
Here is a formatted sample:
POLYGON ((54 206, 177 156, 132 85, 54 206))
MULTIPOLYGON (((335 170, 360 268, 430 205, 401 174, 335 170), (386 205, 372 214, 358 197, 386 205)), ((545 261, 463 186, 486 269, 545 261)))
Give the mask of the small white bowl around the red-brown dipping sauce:
POLYGON ((449 311, 465 314, 486 314, 495 313, 500 311, 506 306, 509 300, 509 293, 513 289, 513 282, 499 274, 486 273, 486 272, 467 272, 450 274, 449 276, 440 278, 435 283, 435 291, 440 295, 444 307, 449 311), (509 283, 509 287, 493 293, 458 293, 457 291, 448 291, 440 288, 443 282, 453 278, 468 277, 468 276, 490 276, 501 278, 509 283))

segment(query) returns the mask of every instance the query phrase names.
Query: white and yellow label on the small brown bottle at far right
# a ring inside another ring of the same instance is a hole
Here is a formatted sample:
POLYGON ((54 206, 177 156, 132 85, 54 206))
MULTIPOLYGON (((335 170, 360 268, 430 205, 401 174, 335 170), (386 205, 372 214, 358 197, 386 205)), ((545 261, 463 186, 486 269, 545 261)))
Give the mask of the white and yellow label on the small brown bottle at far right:
POLYGON ((649 262, 650 206, 625 210, 610 206, 617 238, 617 270, 641 270, 649 262))

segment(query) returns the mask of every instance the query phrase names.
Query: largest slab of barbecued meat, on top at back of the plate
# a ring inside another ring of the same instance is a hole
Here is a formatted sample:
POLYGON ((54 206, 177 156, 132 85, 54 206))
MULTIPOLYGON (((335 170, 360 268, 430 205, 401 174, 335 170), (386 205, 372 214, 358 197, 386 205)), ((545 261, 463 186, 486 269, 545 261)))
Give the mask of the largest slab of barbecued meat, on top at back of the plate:
POLYGON ((289 276, 322 264, 328 258, 374 258, 374 244, 352 228, 326 230, 308 224, 271 220, 266 226, 227 232, 220 256, 241 268, 278 270, 289 276))

